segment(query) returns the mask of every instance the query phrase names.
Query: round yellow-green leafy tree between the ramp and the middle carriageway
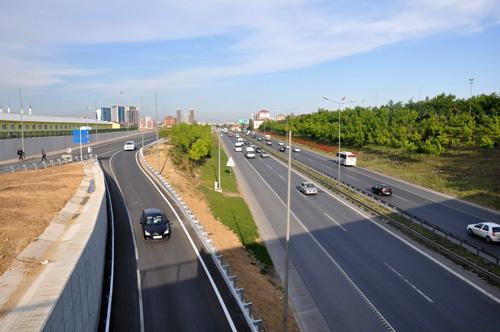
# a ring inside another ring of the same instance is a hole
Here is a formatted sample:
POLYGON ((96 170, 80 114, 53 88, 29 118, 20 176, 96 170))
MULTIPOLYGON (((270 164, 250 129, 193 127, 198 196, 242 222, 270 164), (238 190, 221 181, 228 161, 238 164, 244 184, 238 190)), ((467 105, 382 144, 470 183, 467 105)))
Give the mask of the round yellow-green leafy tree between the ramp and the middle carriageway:
POLYGON ((209 126, 181 123, 160 132, 172 144, 170 155, 176 164, 200 163, 210 156, 212 136, 209 126))

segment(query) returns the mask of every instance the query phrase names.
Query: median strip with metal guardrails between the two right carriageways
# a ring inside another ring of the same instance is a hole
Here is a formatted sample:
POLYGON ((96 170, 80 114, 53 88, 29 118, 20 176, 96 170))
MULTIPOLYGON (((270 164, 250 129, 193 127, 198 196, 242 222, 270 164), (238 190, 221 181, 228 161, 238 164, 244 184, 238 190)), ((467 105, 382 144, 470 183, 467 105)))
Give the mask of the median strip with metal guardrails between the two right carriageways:
MULTIPOLYGON (((283 156, 282 153, 280 152, 277 152, 275 149, 272 149, 270 148, 268 145, 266 144, 263 144, 259 141, 256 141, 254 139, 252 139, 254 141, 254 143, 260 145, 264 150, 268 151, 269 153, 271 153, 273 156, 277 157, 278 159, 280 160, 285 160, 286 158, 283 156)), ((363 190, 361 189, 358 189, 354 186, 351 186, 347 183, 345 183, 344 181, 338 181, 337 178, 327 174, 326 172, 322 171, 322 170, 319 170, 315 167, 312 167, 310 165, 307 165, 305 163, 302 163, 298 160, 295 160, 295 159, 292 159, 292 166, 297 169, 298 171, 301 171, 303 173, 305 173, 307 176, 309 176, 310 178, 314 179, 315 181, 319 182, 321 185, 323 185, 324 187, 326 187, 327 189, 329 189, 330 191, 334 191, 338 194, 341 194, 342 196, 344 196, 345 198, 355 202, 356 204, 358 205, 361 205, 364 209, 368 210, 369 212, 379 216, 379 217, 382 217, 384 218, 385 220, 388 220, 389 222, 393 223, 393 224, 396 224, 398 227, 401 227, 401 228, 404 228, 405 231, 411 233, 412 235, 420 238, 421 240, 425 241, 426 243, 428 244, 431 244, 433 247, 441 250, 442 252, 444 252, 445 254, 447 254, 448 256, 451 256, 453 257, 454 259, 460 261, 462 264, 464 265, 467 265, 469 268, 471 268, 472 270, 475 270, 479 273, 482 273, 483 275, 487 276, 488 278, 490 279, 493 279, 495 280, 496 282, 500 282, 500 277, 480 266, 478 266, 477 264, 471 262, 470 260, 468 260, 467 258, 464 258, 460 255, 458 255, 457 253, 451 251, 450 249, 448 248, 445 248, 444 246, 442 246, 441 244, 437 243, 436 241, 422 235, 420 232, 412 229, 411 227, 408 227, 407 225, 404 225, 403 223, 399 222, 398 220, 394 219, 394 218, 391 218, 383 213, 381 213, 380 211, 374 209, 373 207, 369 206, 368 204, 366 204, 365 202, 359 200, 358 198, 354 197, 352 194, 346 192, 346 190, 354 190, 356 191, 358 194, 361 194, 361 195, 364 195, 365 197, 368 197, 370 199, 374 199, 376 202, 378 202, 379 204, 383 204, 385 205, 386 207, 389 207, 391 208, 393 211, 396 211, 397 213, 399 213, 399 215, 403 218, 406 218, 408 219, 409 221, 411 222, 414 222, 416 224, 419 224, 420 226, 428 229, 428 230, 431 230, 434 234, 437 234, 437 235, 441 235, 443 236, 445 239, 448 239, 450 240, 450 242, 453 242, 454 244, 457 244, 457 245, 460 245, 460 247, 468 250, 469 252, 473 253, 473 254, 476 254, 477 256, 481 257, 481 258, 485 258, 485 259, 488 259, 488 261, 492 262, 492 263, 496 263, 497 266, 500 266, 500 257, 498 257, 497 255, 489 252, 487 249, 484 249, 484 248, 479 248, 477 246, 475 246, 474 244, 468 242, 466 239, 463 239, 461 238, 460 236, 457 236, 451 232, 448 232, 446 230, 444 230, 443 228, 437 226, 437 225, 434 225, 428 221, 425 221, 425 220, 422 220, 420 218, 417 218, 409 213, 407 213, 406 211, 403 211, 397 207, 395 207, 394 205, 390 204, 390 203, 387 203, 387 202, 384 202, 380 199, 376 199, 375 196, 373 195, 370 195, 366 192, 364 192, 363 190), (319 173, 319 175, 318 175, 319 173), (325 181, 324 179, 321 178, 321 176, 323 177, 326 177, 328 178, 329 180, 331 181, 335 181, 337 183, 337 185, 332 185, 331 183, 328 183, 327 181, 325 181), (347 188, 344 188, 346 190, 342 190, 340 188, 340 186, 344 186, 344 187, 347 187, 347 188)))

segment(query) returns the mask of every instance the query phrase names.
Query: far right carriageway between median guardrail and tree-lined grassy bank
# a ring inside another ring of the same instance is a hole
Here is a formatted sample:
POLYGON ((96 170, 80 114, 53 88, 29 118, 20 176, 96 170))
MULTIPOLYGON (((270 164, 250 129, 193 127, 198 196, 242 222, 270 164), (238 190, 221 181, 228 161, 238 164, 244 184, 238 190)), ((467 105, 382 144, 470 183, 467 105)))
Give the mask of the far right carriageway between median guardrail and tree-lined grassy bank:
MULTIPOLYGON (((273 148, 277 149, 278 141, 272 140, 272 142, 273 148)), ((294 159, 337 177, 338 165, 333 158, 307 149, 301 148, 301 150, 293 153, 294 159)), ((500 223, 498 212, 359 167, 341 166, 340 177, 346 183, 365 192, 369 192, 377 183, 386 183, 393 188, 393 195, 383 197, 382 200, 500 256, 500 245, 488 244, 481 238, 468 235, 466 229, 468 224, 473 223, 486 221, 500 223)))

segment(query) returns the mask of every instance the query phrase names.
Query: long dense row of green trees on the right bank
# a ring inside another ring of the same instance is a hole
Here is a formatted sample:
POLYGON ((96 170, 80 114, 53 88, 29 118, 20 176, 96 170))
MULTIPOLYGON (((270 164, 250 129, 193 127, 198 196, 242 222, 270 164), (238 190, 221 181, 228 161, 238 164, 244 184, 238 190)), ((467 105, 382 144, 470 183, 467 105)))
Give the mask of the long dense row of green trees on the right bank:
MULTIPOLYGON (((324 142, 338 140, 337 111, 319 109, 293 116, 294 134, 324 142)), ((479 95, 457 99, 438 95, 405 104, 347 108, 340 115, 341 140, 362 147, 375 144, 410 151, 440 154, 449 148, 500 146, 500 96, 479 95)), ((260 129, 284 133, 286 121, 267 121, 260 129)))

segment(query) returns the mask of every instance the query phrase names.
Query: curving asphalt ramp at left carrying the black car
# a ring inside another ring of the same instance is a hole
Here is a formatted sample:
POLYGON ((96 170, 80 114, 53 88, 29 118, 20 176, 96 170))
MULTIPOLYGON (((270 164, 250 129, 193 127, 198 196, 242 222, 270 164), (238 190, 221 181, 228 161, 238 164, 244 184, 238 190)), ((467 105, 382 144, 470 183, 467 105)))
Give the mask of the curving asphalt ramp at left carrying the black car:
MULTIPOLYGON (((147 142, 152 139, 148 137, 147 142)), ((185 232, 182 218, 178 219, 175 213, 179 214, 179 210, 171 207, 146 177, 136 152, 122 151, 122 147, 123 141, 101 151, 115 226, 111 330, 248 330, 189 224, 185 223, 185 232), (162 209, 172 222, 170 239, 143 240, 139 216, 144 208, 151 207, 162 209)))

